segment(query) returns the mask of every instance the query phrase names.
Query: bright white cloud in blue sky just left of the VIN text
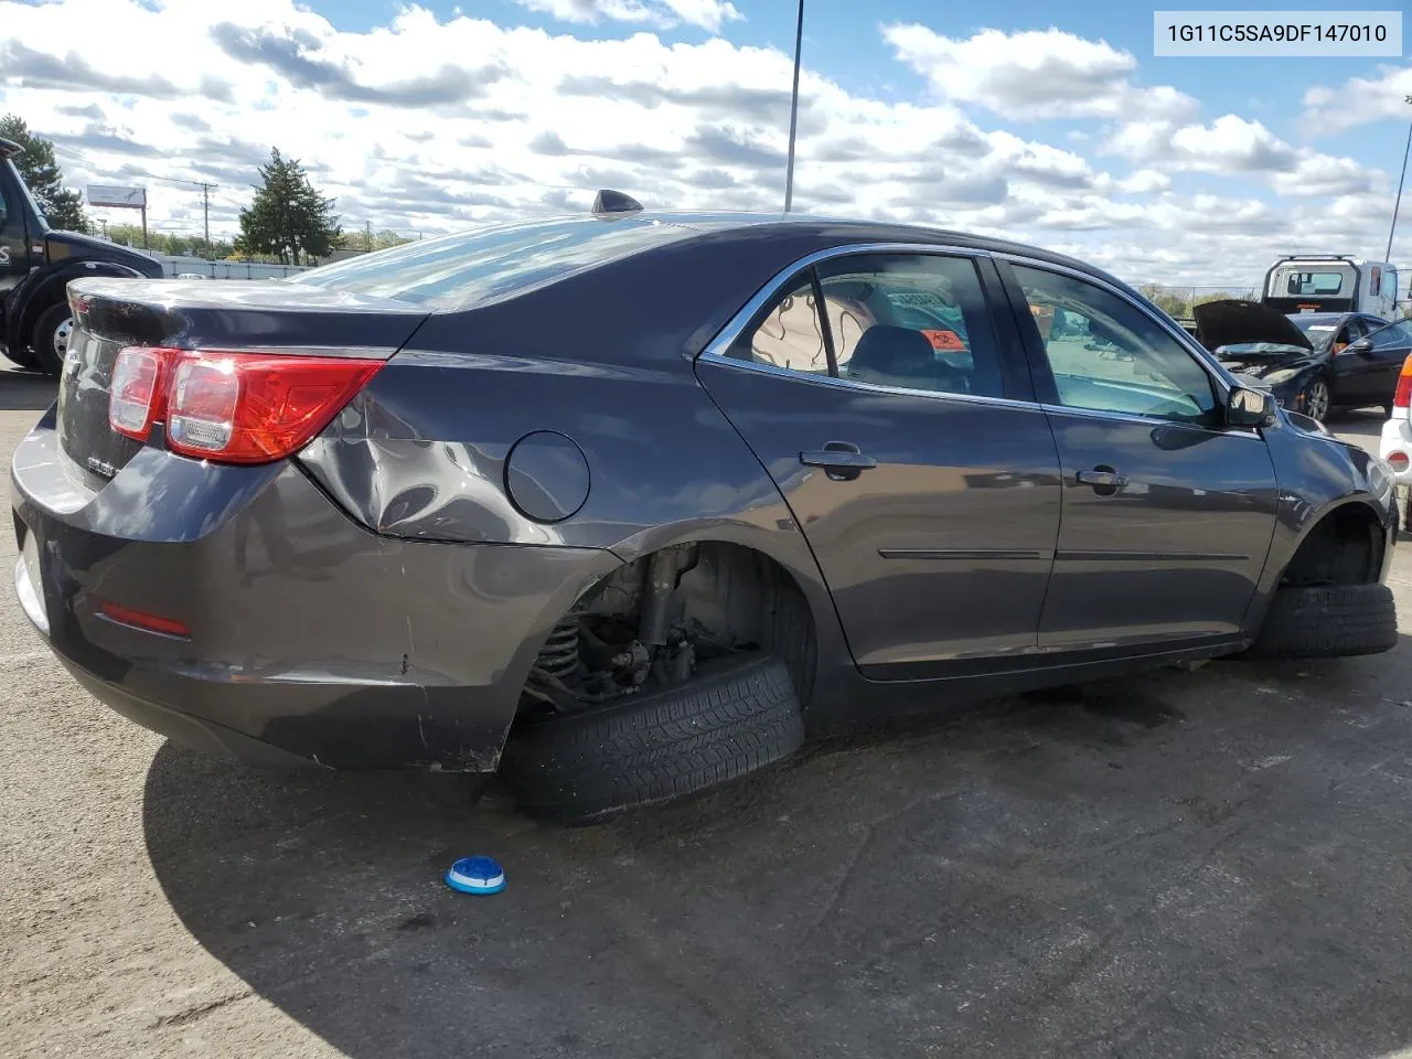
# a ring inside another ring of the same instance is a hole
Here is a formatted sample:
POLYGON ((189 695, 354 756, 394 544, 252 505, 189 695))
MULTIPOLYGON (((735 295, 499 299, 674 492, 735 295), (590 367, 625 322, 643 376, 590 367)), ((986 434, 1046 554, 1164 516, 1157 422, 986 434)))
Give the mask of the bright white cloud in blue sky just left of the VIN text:
POLYGON ((882 35, 942 99, 1003 117, 1185 117, 1196 109, 1173 88, 1135 86, 1130 52, 1060 30, 981 30, 957 40, 914 23, 885 25, 882 35))

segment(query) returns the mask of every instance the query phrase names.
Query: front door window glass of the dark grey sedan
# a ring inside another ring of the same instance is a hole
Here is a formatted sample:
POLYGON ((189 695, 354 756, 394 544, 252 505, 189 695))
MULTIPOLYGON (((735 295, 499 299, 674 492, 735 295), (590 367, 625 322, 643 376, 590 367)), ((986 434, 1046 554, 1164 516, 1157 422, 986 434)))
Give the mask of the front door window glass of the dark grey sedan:
POLYGON ((1015 265, 1059 404, 1178 422, 1211 422, 1216 393, 1196 357, 1156 321, 1094 284, 1015 265))

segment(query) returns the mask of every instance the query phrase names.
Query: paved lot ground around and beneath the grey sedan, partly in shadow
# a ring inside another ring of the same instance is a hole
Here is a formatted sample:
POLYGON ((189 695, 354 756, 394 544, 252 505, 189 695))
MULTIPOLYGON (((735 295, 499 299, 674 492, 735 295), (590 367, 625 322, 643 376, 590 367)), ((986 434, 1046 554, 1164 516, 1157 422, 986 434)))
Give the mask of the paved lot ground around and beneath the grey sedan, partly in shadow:
MULTIPOLYGON (((51 393, 0 373, 6 459, 51 393)), ((121 722, 0 546, 0 1056, 1412 1046, 1405 644, 986 703, 561 830, 455 777, 260 774, 121 722), (467 853, 508 890, 448 891, 467 853)), ((1392 583, 1412 630, 1406 546, 1392 583)))

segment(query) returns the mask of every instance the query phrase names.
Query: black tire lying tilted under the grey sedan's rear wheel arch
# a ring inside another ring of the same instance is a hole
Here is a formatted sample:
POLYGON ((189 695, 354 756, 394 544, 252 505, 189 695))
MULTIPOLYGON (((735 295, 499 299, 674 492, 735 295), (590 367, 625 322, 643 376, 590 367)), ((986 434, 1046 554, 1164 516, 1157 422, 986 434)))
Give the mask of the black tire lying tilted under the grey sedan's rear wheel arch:
POLYGON ((501 772, 522 812, 590 823, 723 786, 802 744, 789 668, 754 655, 610 706, 528 716, 510 734, 501 772))

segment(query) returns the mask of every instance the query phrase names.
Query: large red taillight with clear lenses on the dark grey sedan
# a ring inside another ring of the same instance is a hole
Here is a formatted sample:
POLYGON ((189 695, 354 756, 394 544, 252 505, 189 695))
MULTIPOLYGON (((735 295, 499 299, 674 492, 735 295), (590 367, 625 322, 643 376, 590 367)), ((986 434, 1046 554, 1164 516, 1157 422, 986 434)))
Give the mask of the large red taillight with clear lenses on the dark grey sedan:
POLYGON ((380 367, 343 357, 124 349, 113 366, 109 422, 144 441, 165 421, 172 452, 267 463, 306 445, 380 367))

